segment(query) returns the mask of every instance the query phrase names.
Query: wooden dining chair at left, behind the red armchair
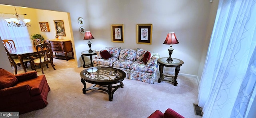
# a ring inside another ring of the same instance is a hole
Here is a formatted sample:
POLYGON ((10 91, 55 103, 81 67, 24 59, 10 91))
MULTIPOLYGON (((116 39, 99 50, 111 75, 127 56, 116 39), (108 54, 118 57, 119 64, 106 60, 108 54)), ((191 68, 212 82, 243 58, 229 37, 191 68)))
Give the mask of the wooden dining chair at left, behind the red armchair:
MULTIPOLYGON (((15 74, 17 74, 17 71, 18 71, 17 66, 20 66, 20 65, 21 65, 20 60, 19 60, 18 58, 12 58, 12 56, 10 55, 10 53, 9 53, 9 51, 6 49, 6 47, 4 47, 4 48, 5 48, 7 57, 8 57, 8 59, 9 59, 9 61, 10 61, 11 67, 14 67, 15 74)), ((23 58, 23 62, 24 62, 25 67, 28 68, 27 63, 30 63, 30 64, 31 64, 31 59, 28 59, 28 58, 25 58, 25 57, 24 57, 24 58, 23 58)))

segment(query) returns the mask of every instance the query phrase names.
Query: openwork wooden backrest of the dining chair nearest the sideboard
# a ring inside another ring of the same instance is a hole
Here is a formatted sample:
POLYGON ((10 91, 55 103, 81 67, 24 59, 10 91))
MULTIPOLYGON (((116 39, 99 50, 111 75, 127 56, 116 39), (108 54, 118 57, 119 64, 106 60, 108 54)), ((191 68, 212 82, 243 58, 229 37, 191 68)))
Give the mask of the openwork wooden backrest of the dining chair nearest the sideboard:
POLYGON ((41 62, 50 63, 50 61, 53 59, 51 43, 41 43, 36 45, 36 51, 38 52, 38 56, 41 56, 41 58, 39 58, 40 63, 41 62))

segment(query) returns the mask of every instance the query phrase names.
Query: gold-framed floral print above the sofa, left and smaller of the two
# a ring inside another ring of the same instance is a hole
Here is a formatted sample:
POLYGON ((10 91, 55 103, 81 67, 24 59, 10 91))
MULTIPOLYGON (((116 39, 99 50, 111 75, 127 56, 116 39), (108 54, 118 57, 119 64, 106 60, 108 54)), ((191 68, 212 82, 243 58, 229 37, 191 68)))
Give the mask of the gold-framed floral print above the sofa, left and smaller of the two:
POLYGON ((112 42, 124 43, 124 24, 111 25, 112 42))

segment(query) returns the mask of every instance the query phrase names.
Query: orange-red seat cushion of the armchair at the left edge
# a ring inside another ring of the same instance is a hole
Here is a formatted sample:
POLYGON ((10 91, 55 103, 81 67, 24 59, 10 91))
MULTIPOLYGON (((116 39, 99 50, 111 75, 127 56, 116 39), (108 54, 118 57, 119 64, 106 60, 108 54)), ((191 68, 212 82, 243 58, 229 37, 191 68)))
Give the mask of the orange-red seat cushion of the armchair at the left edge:
POLYGON ((29 85, 31 88, 30 94, 32 96, 34 96, 34 95, 38 95, 42 92, 45 81, 46 81, 45 75, 39 75, 37 78, 19 82, 16 86, 29 85))

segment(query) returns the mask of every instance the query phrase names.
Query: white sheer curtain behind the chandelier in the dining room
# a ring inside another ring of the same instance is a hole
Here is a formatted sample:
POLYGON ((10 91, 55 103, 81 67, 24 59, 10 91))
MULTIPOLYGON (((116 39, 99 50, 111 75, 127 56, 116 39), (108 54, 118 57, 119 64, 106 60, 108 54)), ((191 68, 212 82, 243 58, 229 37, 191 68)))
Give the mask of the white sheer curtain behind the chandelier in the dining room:
MULTIPOLYGON (((20 17, 24 18, 24 15, 20 15, 20 17)), ((2 40, 11 39, 16 47, 32 46, 27 27, 8 27, 8 22, 4 20, 5 18, 15 18, 15 16, 13 14, 0 13, 0 36, 2 40)))

